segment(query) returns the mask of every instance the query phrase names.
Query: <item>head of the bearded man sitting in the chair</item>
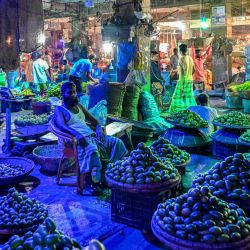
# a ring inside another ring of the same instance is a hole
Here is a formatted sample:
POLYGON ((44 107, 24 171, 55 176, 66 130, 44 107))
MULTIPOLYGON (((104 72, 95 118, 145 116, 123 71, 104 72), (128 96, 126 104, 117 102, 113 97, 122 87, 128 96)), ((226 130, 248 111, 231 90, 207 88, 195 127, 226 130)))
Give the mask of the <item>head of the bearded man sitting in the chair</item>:
POLYGON ((65 82, 61 86, 61 94, 63 103, 67 107, 72 108, 78 104, 76 85, 73 82, 65 82))

